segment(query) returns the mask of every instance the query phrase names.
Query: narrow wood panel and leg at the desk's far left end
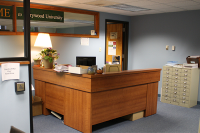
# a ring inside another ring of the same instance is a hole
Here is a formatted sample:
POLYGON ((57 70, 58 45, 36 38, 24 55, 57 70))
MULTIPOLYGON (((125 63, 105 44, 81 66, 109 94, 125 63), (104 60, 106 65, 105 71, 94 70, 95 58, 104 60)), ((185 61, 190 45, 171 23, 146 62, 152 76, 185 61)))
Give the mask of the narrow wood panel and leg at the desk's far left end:
POLYGON ((42 114, 49 115, 50 111, 46 109, 46 92, 45 85, 46 83, 43 81, 35 80, 35 95, 42 98, 43 106, 42 106, 42 114))

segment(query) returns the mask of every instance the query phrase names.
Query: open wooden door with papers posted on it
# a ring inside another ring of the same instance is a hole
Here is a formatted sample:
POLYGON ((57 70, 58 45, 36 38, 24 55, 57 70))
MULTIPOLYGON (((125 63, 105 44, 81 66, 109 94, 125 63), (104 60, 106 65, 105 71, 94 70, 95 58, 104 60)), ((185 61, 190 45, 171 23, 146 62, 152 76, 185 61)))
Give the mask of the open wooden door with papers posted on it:
POLYGON ((107 24, 106 32, 106 62, 112 63, 113 55, 120 56, 122 70, 123 24, 107 24))

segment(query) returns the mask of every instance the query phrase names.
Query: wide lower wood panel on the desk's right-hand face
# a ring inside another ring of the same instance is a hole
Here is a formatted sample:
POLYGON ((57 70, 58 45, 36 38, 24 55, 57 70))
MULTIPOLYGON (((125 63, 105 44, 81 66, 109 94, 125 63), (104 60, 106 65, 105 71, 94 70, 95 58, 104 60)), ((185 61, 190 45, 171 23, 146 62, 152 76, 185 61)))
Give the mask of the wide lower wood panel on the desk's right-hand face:
POLYGON ((92 125, 145 110, 147 85, 92 93, 92 125))

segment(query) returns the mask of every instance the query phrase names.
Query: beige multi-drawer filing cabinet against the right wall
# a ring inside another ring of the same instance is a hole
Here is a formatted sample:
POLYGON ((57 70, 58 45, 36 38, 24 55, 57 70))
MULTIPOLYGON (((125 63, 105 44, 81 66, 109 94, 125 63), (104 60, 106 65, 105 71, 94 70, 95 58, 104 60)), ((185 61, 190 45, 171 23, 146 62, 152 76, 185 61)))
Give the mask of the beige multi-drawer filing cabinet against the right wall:
POLYGON ((161 102, 190 108, 197 105, 198 68, 163 67, 161 102))

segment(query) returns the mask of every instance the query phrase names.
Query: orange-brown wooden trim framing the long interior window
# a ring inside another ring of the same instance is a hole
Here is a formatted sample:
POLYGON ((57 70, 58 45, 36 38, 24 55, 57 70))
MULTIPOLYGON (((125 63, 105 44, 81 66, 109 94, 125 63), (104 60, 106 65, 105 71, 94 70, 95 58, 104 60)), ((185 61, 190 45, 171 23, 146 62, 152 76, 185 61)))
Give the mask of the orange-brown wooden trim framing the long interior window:
MULTIPOLYGON (((0 5, 13 6, 13 9, 15 9, 15 10, 13 10, 13 14, 16 14, 16 7, 23 7, 22 2, 1 1, 0 5)), ((99 38, 99 12, 87 11, 87 10, 81 10, 81 9, 72 9, 72 8, 67 8, 67 7, 50 6, 50 5, 39 5, 39 4, 30 4, 30 8, 94 15, 95 16, 94 29, 95 29, 95 32, 97 33, 97 35, 67 34, 67 33, 49 33, 49 34, 50 34, 50 36, 99 38)), ((16 15, 13 15, 13 32, 0 31, 0 35, 24 35, 24 32, 17 32, 17 22, 16 21, 17 21, 16 15)), ((31 32, 31 35, 37 36, 38 33, 39 32, 31 32)))

